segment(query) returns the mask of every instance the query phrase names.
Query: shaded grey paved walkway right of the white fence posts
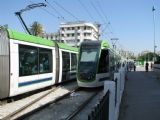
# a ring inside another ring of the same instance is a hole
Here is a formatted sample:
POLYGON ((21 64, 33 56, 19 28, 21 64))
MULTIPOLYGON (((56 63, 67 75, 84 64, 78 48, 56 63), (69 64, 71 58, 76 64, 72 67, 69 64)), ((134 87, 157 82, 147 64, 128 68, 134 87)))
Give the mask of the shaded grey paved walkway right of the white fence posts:
POLYGON ((128 73, 119 120, 160 120, 160 79, 152 71, 128 73))

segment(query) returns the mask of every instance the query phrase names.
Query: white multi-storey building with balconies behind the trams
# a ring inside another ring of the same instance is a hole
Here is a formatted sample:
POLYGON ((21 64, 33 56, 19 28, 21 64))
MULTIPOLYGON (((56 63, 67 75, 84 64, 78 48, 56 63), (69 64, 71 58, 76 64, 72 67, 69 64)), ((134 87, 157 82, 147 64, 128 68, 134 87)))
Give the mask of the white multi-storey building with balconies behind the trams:
POLYGON ((78 47, 83 41, 99 40, 99 24, 67 22, 60 24, 59 39, 70 46, 78 47))

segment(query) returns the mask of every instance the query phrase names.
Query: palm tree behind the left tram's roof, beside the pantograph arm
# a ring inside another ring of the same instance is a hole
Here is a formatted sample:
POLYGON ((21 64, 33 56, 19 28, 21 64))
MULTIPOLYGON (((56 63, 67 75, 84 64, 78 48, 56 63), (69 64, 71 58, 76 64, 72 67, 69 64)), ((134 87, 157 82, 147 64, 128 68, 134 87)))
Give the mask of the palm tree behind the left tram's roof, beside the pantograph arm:
POLYGON ((33 22, 33 24, 31 25, 31 33, 35 36, 42 36, 43 26, 37 21, 33 22))

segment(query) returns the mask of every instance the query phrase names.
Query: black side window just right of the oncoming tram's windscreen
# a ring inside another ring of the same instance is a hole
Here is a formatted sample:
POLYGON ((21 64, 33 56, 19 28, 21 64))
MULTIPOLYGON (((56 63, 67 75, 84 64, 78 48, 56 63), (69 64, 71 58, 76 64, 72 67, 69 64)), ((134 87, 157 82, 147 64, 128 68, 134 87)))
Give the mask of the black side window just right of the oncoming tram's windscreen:
POLYGON ((107 50, 102 50, 100 60, 99 60, 99 67, 98 73, 106 73, 109 71, 109 55, 107 50))

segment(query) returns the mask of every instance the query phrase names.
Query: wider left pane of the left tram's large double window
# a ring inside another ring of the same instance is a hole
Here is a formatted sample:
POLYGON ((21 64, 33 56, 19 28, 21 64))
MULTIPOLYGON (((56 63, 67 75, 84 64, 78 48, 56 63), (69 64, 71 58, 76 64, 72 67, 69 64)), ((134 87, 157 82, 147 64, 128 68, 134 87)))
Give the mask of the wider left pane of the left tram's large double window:
POLYGON ((19 76, 38 74, 38 48, 19 45, 19 76))

